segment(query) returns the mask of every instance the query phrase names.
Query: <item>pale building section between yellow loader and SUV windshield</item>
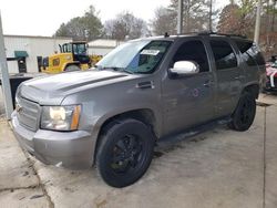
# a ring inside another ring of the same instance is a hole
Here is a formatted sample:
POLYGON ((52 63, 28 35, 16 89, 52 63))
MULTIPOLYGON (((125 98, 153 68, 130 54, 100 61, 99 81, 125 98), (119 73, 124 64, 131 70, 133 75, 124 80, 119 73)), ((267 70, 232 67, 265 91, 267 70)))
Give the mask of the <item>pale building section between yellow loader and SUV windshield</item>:
POLYGON ((116 40, 106 40, 99 39, 95 41, 89 42, 89 54, 90 55, 102 55, 104 56, 106 53, 119 46, 124 42, 116 40))

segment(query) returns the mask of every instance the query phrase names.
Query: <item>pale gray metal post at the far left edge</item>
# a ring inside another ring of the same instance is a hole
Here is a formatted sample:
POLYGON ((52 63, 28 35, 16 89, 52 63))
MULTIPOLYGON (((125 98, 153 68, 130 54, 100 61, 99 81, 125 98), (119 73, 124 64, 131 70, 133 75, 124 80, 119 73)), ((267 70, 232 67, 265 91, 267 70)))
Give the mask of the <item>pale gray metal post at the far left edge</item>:
POLYGON ((11 98, 10 77, 9 77, 7 56, 4 50, 1 12, 0 12, 0 70, 1 70, 0 75, 2 81, 6 117, 7 119, 11 119, 11 113, 13 111, 13 107, 11 98))

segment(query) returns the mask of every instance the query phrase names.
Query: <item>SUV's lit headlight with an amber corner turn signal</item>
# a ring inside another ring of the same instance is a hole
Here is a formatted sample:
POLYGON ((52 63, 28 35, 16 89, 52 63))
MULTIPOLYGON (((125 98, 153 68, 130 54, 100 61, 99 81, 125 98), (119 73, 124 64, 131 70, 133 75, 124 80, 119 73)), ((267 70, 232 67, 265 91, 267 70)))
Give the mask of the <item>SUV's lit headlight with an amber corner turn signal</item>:
POLYGON ((79 125, 81 105, 43 106, 41 128, 55 131, 75 131, 79 125))

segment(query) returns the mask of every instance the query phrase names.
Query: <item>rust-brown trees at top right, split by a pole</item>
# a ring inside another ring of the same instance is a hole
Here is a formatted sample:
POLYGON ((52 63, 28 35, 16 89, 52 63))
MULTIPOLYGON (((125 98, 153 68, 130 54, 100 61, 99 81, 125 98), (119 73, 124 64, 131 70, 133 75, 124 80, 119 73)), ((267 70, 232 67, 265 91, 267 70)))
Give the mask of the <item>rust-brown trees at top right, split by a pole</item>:
MULTIPOLYGON (((234 0, 219 15, 217 29, 223 33, 236 33, 253 38, 257 0, 234 0)), ((259 46, 266 58, 277 54, 277 1, 265 0, 261 12, 259 46)))

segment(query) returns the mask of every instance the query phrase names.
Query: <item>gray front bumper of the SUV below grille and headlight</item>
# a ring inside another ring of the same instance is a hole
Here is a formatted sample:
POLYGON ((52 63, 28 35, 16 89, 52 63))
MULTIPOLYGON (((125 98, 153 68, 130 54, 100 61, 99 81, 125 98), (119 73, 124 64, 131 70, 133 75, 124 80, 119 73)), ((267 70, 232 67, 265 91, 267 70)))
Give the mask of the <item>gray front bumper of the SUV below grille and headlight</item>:
POLYGON ((94 143, 85 131, 32 132, 19 123, 14 113, 12 127, 20 146, 44 164, 72 169, 89 168, 93 164, 94 143))

